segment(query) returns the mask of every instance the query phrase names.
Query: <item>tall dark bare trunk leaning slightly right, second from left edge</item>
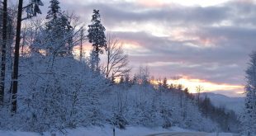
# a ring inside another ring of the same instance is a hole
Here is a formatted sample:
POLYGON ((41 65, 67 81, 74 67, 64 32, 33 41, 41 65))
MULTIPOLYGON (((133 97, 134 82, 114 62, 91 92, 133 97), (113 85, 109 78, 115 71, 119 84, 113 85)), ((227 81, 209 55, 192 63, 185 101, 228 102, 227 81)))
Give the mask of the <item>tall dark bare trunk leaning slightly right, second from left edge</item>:
POLYGON ((21 15, 22 15, 23 0, 19 0, 18 14, 17 14, 17 31, 16 43, 12 73, 12 115, 17 111, 17 87, 18 87, 18 71, 19 71, 19 54, 20 54, 20 40, 21 40, 21 15))

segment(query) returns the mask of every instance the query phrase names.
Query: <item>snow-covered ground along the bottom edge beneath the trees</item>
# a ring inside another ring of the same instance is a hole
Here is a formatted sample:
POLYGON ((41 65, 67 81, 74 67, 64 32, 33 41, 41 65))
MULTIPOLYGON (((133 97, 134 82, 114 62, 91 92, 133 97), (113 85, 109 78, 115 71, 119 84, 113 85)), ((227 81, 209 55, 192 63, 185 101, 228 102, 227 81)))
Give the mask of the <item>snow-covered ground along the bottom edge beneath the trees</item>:
MULTIPOLYGON (((180 133, 178 135, 197 135, 197 132, 187 130, 187 129, 181 129, 178 127, 173 127, 171 129, 162 129, 162 128, 154 128, 149 129, 145 127, 127 127, 126 130, 116 129, 116 136, 146 136, 146 135, 172 135, 177 133, 180 133), (170 134, 164 134, 164 133, 170 133, 170 134), (189 134, 192 133, 192 134, 189 134)), ((199 134, 199 133, 198 133, 199 134)), ((5 131, 0 130, 1 136, 41 136, 42 134, 38 133, 31 133, 31 132, 20 132, 20 131, 5 131)), ((44 136, 50 136, 50 132, 45 132, 43 134, 44 136)), ((63 133, 56 133, 56 136, 112 136, 113 130, 111 126, 106 127, 92 127, 92 128, 78 128, 78 129, 67 129, 65 134, 63 133)), ((206 135, 206 136, 216 136, 216 133, 207 134, 207 133, 200 133, 200 135, 206 135)), ((220 133, 219 136, 232 136, 233 134, 227 134, 227 133, 220 133)))

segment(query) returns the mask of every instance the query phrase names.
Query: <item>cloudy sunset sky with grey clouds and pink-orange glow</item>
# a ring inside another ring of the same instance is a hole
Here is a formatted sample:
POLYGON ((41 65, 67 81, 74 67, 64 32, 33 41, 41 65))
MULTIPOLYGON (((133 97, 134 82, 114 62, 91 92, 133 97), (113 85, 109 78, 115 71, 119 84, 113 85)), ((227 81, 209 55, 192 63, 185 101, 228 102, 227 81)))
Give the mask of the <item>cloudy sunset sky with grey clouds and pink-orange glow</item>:
MULTIPOLYGON (((49 6, 48 0, 42 2, 49 6)), ((92 10, 99 9, 107 32, 124 44, 134 72, 146 65, 154 77, 167 77, 191 91, 201 85, 206 91, 243 96, 244 69, 256 49, 255 1, 59 2, 62 11, 78 14, 87 25, 92 10)))

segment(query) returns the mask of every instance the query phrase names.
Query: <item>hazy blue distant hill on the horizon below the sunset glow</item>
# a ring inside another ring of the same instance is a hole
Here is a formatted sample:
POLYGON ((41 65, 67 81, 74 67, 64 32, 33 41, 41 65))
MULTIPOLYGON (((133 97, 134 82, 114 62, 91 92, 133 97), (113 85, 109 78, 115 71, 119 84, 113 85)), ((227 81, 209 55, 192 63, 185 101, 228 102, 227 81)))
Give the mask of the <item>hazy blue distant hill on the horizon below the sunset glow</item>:
POLYGON ((200 95, 202 98, 205 96, 210 98, 214 106, 224 106, 228 110, 234 110, 236 114, 241 114, 244 109, 244 97, 229 97, 212 92, 202 92, 200 95))

